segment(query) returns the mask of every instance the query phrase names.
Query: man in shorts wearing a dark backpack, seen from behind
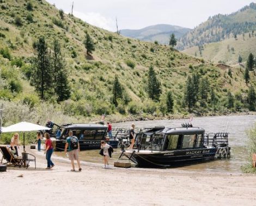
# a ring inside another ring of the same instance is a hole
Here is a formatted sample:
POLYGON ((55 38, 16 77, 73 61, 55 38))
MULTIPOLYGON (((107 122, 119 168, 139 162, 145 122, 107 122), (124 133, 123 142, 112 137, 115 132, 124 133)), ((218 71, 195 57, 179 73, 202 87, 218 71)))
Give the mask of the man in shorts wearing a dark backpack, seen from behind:
POLYGON ((75 171, 75 164, 74 164, 74 159, 76 159, 77 164, 78 164, 78 170, 81 171, 82 168, 80 166, 80 160, 78 158, 78 152, 80 151, 80 145, 79 141, 76 136, 73 136, 73 132, 69 131, 69 137, 66 138, 66 144, 65 144, 65 152, 66 149, 69 147, 69 159, 71 160, 71 165, 72 165, 72 170, 75 171))

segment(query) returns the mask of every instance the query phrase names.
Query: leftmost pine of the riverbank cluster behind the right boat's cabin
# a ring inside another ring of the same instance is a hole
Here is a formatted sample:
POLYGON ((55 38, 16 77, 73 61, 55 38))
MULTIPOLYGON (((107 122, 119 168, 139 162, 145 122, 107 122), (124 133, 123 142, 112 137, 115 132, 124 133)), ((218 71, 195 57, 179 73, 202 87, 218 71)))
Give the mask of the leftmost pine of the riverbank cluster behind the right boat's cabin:
POLYGON ((194 92, 194 86, 191 76, 187 77, 186 88, 184 91, 185 104, 188 110, 191 110, 196 104, 196 93, 194 92))

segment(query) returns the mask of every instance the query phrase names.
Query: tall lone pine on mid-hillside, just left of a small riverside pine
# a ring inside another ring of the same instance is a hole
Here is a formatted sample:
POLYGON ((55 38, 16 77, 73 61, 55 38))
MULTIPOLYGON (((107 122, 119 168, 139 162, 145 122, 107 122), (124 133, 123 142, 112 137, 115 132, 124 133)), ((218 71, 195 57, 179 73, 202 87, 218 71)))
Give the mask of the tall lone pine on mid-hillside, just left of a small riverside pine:
POLYGON ((153 101, 159 101, 161 93, 162 93, 161 83, 156 78, 156 74, 155 74, 153 66, 150 66, 149 71, 148 71, 149 98, 151 98, 153 101))

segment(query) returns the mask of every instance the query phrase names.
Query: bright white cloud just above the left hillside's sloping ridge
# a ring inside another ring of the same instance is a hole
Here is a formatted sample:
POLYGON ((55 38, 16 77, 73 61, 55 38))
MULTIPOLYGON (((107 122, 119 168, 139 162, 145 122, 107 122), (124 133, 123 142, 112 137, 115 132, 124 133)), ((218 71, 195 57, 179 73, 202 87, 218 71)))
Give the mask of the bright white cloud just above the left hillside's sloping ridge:
POLYGON ((86 21, 89 24, 95 25, 96 27, 100 27, 109 31, 114 31, 114 20, 112 20, 111 18, 106 18, 102 16, 100 13, 83 13, 80 11, 73 11, 73 15, 78 18, 81 18, 81 20, 86 21))

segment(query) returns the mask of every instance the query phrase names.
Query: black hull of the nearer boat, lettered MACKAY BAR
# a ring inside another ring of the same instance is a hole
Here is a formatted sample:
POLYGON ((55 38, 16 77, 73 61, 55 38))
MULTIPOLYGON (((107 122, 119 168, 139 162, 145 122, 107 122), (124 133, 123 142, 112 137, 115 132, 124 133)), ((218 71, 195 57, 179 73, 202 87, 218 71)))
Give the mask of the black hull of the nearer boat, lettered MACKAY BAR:
POLYGON ((173 166, 184 162, 199 162, 216 158, 217 148, 165 152, 135 152, 133 160, 139 166, 173 166))

